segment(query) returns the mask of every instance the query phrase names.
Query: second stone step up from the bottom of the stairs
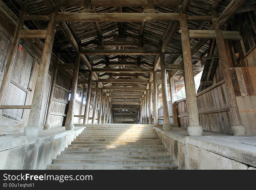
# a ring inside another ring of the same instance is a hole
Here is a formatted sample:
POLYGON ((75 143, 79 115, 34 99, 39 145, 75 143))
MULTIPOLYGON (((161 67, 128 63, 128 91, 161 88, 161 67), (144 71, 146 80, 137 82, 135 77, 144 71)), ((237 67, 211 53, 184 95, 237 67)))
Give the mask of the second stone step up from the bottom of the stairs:
POLYGON ((143 164, 173 165, 171 160, 97 160, 97 159, 53 159, 52 164, 143 164))

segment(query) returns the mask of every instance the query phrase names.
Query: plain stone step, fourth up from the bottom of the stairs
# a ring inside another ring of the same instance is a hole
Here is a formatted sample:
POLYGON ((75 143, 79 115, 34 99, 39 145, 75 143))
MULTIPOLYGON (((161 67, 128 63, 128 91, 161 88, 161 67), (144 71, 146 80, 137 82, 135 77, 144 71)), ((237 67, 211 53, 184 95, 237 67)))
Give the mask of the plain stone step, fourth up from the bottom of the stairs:
POLYGON ((82 154, 82 155, 144 155, 144 156, 168 156, 166 151, 62 151, 61 154, 82 154))

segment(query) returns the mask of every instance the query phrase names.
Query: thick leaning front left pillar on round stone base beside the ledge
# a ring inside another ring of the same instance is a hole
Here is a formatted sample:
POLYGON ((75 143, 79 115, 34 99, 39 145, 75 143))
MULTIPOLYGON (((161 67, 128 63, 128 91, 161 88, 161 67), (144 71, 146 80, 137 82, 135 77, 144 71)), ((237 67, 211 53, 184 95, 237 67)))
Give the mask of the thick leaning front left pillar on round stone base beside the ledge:
POLYGON ((54 41, 54 30, 56 28, 56 17, 58 8, 54 13, 51 13, 48 29, 45 37, 45 44, 42 51, 42 57, 40 62, 40 67, 38 70, 38 77, 35 84, 34 96, 32 99, 31 109, 29 113, 28 126, 24 128, 25 136, 35 136, 38 135, 40 127, 40 115, 42 106, 42 94, 45 88, 45 81, 48 75, 51 51, 54 41))

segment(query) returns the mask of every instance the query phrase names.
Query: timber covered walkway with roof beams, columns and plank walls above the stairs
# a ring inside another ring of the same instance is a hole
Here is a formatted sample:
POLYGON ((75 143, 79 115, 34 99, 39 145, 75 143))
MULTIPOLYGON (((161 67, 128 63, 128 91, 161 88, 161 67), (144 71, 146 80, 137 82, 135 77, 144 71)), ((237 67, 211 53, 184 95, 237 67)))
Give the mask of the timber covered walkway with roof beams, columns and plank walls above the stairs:
POLYGON ((255 6, 1 0, 1 134, 136 123, 256 135, 255 6))

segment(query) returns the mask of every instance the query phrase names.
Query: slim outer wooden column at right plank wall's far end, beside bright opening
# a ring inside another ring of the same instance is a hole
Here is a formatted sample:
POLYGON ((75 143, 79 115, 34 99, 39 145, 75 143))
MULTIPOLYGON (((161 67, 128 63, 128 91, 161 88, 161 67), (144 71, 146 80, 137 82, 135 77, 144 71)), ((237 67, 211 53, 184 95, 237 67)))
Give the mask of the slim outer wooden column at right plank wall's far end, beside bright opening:
POLYGON ((171 71, 168 70, 168 79, 169 79, 169 84, 170 84, 170 98, 171 98, 171 105, 172 105, 172 120, 173 120, 173 126, 178 127, 178 117, 177 117, 177 108, 176 108, 176 103, 175 102, 175 87, 174 87, 174 80, 173 78, 170 78, 171 76, 171 71))

